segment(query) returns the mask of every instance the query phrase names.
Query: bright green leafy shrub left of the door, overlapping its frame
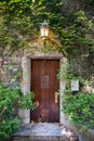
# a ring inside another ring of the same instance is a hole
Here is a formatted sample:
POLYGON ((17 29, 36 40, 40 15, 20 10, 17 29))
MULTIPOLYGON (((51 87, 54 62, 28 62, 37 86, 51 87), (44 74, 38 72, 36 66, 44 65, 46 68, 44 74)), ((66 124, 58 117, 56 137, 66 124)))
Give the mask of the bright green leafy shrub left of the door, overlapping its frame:
POLYGON ((35 108, 33 92, 22 94, 19 88, 0 86, 0 140, 9 138, 19 126, 15 108, 35 108))

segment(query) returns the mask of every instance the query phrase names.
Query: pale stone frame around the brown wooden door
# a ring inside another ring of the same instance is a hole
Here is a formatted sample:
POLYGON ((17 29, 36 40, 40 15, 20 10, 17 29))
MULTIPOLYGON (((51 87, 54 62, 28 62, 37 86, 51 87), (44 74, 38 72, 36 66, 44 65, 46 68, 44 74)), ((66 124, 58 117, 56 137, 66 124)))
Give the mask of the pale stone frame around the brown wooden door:
MULTIPOLYGON (((24 55, 23 56, 23 61, 22 61, 22 68, 23 68, 23 84, 21 85, 22 87, 22 91, 24 94, 26 94, 27 92, 30 92, 30 86, 31 86, 31 81, 30 81, 30 77, 31 77, 31 60, 59 60, 59 68, 62 68, 62 62, 64 62, 64 59, 61 54, 55 54, 53 56, 30 56, 30 55, 24 55)), ((59 89, 64 90, 66 86, 65 81, 59 80, 59 89)), ((65 121, 65 115, 62 112, 62 95, 59 95, 59 123, 64 123, 65 121)), ((25 110, 23 111, 22 114, 22 120, 24 124, 29 124, 30 123, 30 111, 29 110, 25 110)))

